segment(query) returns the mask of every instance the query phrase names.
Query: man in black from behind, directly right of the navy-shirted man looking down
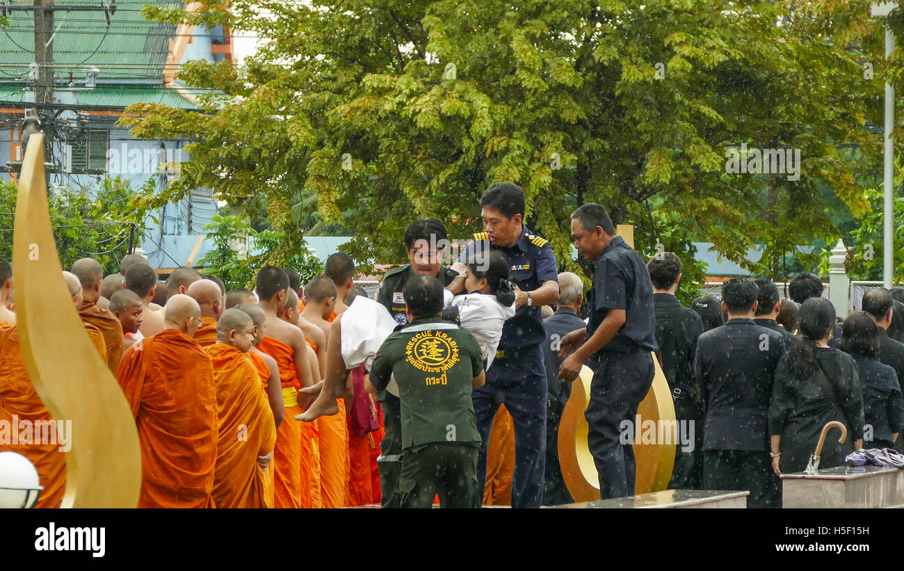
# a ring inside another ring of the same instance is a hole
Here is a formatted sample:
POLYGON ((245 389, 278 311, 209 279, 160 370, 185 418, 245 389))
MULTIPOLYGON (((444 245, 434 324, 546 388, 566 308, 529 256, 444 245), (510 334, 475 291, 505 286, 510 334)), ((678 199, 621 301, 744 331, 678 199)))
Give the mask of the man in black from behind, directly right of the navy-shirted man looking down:
POLYGON ((693 353, 703 322, 696 312, 684 307, 675 292, 681 281, 681 259, 672 252, 656 254, 646 263, 653 281, 655 335, 665 380, 672 389, 675 419, 679 426, 694 426, 690 450, 675 446, 671 490, 699 490, 703 473, 703 407, 700 388, 693 378, 693 353))

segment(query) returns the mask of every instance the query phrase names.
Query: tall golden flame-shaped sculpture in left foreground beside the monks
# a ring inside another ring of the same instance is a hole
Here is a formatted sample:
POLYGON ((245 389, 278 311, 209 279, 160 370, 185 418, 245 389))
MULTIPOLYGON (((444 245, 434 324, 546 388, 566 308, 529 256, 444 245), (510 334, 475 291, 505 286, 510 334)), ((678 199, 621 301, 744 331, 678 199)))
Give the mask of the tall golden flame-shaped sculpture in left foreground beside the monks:
POLYGON ((51 416, 72 421, 62 507, 134 508, 141 488, 135 418, 67 293, 43 155, 43 136, 32 135, 16 199, 14 302, 25 367, 51 416))

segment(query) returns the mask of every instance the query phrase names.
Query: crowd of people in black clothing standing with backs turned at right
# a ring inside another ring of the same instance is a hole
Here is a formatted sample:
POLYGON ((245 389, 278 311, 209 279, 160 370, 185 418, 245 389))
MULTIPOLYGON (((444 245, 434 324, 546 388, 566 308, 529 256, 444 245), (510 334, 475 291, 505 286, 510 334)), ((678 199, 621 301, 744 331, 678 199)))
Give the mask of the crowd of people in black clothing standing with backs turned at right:
POLYGON ((791 281, 791 299, 769 280, 737 277, 720 300, 702 296, 684 308, 674 297, 678 257, 657 255, 647 268, 676 417, 702 433, 702 446, 676 450, 670 488, 749 490, 749 507, 780 507, 778 474, 805 469, 826 423, 842 422, 848 436, 826 439, 820 468, 862 447, 895 446, 904 426, 904 289, 869 289, 862 311, 838 323, 812 274, 791 281))

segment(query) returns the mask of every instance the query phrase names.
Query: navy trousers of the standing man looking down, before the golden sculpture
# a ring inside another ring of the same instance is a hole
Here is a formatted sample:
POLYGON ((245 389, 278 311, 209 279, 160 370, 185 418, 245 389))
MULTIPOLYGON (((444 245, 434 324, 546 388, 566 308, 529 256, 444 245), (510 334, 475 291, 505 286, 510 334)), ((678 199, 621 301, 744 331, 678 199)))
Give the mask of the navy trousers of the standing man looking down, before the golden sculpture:
MULTIPOLYGON (((622 445, 622 422, 634 426, 637 407, 653 385, 653 353, 601 352, 592 360, 587 444, 599 473, 603 500, 633 496, 636 466, 634 446, 622 445)), ((639 426, 636 427, 639 429, 639 426)))

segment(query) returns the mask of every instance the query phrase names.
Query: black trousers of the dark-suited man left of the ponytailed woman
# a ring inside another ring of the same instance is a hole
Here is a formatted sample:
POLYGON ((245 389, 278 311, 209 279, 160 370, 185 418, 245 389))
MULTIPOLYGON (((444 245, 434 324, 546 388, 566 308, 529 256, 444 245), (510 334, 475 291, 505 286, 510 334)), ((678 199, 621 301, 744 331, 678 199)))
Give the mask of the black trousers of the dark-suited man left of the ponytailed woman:
POLYGON ((707 450, 703 453, 703 488, 748 490, 748 508, 781 508, 781 480, 766 450, 707 450))

